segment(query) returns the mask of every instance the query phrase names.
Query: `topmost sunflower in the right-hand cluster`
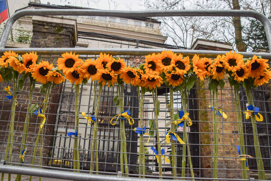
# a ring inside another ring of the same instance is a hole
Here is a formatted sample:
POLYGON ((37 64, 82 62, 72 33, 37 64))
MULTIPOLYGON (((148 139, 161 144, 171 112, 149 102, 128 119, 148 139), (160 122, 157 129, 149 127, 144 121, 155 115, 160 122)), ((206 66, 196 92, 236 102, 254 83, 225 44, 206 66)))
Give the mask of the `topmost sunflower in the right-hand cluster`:
POLYGON ((235 51, 225 53, 226 56, 224 56, 224 68, 228 71, 235 72, 237 69, 237 63, 240 61, 243 61, 243 55, 239 53, 235 53, 235 51))

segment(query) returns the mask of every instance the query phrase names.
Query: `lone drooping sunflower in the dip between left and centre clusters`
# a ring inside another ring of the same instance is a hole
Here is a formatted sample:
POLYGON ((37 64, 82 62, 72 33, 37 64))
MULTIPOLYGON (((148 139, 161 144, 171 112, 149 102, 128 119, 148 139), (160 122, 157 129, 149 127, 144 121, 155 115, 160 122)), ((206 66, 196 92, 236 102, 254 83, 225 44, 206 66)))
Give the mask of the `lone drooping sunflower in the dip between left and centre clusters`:
POLYGON ((123 79, 125 84, 131 83, 133 86, 137 86, 140 83, 139 75, 137 69, 131 68, 130 66, 125 67, 119 78, 123 79))

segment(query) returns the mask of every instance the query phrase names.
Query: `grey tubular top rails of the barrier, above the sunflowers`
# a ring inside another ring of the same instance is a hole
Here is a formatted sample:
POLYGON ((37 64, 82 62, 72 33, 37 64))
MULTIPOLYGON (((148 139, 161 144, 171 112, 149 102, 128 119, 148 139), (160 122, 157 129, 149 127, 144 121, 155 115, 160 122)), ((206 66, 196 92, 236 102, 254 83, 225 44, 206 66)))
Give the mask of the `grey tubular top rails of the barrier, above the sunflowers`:
MULTIPOLYGON (((114 10, 93 10, 93 9, 27 9, 14 13, 5 24, 1 38, 0 38, 0 53, 9 51, 5 49, 9 33, 14 22, 23 16, 46 16, 46 15, 81 15, 81 16, 113 16, 113 17, 165 17, 165 16, 216 16, 216 17, 252 17, 259 20, 265 29, 266 38, 268 42, 269 51, 271 52, 271 22, 263 14, 252 10, 164 10, 164 11, 114 11, 114 10)), ((110 53, 113 55, 146 55, 149 53, 158 53, 163 49, 132 49, 132 48, 25 48, 25 49, 13 49, 17 53, 25 53, 35 51, 37 53, 56 55, 63 52, 76 51, 79 54, 99 54, 110 53)), ((205 57, 215 57, 218 54, 225 54, 225 51, 208 51, 208 50, 176 50, 175 53, 182 53, 183 55, 194 55, 205 57)), ((244 57, 252 57, 253 55, 261 55, 262 58, 271 59, 270 53, 242 53, 244 57)))

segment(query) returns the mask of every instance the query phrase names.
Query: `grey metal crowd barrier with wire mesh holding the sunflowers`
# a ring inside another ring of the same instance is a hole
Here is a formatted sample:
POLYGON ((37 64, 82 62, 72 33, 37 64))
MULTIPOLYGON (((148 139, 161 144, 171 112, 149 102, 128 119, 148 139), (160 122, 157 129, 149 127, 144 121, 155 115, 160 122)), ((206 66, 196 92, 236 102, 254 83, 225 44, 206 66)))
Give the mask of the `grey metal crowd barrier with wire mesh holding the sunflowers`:
MULTIPOLYGON (((7 42, 7 38, 13 23, 20 17, 25 15, 100 15, 100 16, 115 16, 115 17, 155 17, 155 16, 247 16, 247 17, 254 17, 260 20, 265 29, 266 35, 268 40, 268 45, 271 47, 271 23, 270 21, 260 13, 255 11, 241 11, 241 10, 213 10, 209 12, 208 10, 201 10, 201 11, 192 11, 192 10, 184 10, 184 11, 102 11, 102 10, 23 10, 15 13, 12 15, 6 26, 4 31, 1 35, 0 40, 0 52, 8 51, 9 49, 5 49, 5 44, 7 42)), ((111 55, 118 55, 123 56, 127 61, 128 65, 134 64, 134 57, 127 56, 127 55, 147 55, 149 53, 159 53, 163 49, 91 49, 91 48, 29 48, 29 49, 13 49, 17 53, 25 53, 30 51, 36 51, 40 58, 43 60, 46 57, 43 55, 58 55, 60 53, 66 51, 76 51, 77 53, 81 53, 84 55, 93 55, 97 57, 99 53, 109 53, 111 55)), ((271 48, 270 48, 271 50, 271 48)), ((182 53, 183 55, 194 55, 198 54, 200 56, 206 57, 214 57, 218 54, 224 54, 224 51, 201 51, 201 50, 172 50, 175 53, 182 53)), ((246 53, 242 52, 244 57, 252 57, 255 53, 246 53)), ((256 55, 262 55, 262 58, 271 59, 271 55, 269 53, 257 53, 256 55)), ((59 55, 58 55, 59 56, 59 55)), ((144 57, 139 57, 140 59, 144 59, 144 57)), ((54 62, 55 64, 55 62, 54 62)), ((227 79, 225 79, 227 80, 227 79)), ((2 83, 1 89, 4 86, 11 85, 10 83, 2 83)), ((93 82, 89 81, 86 85, 80 86, 80 108, 79 112, 86 112, 87 114, 91 115, 94 112, 94 92, 93 87, 98 86, 95 85, 93 82)), ((99 109, 99 115, 97 120, 99 120, 98 128, 98 137, 96 138, 98 142, 99 148, 99 171, 93 173, 99 174, 106 174, 107 176, 102 175, 94 175, 94 174, 85 174, 88 173, 90 165, 90 158, 89 154, 91 151, 91 143, 93 141, 91 134, 93 133, 93 125, 88 125, 85 118, 80 116, 79 121, 79 153, 80 153, 80 172, 83 173, 73 173, 69 172, 68 176, 63 177, 63 175, 67 174, 67 170, 73 171, 73 155, 72 151, 74 150, 73 144, 74 140, 72 137, 67 136, 67 133, 74 129, 74 89, 72 89, 72 85, 65 81, 65 83, 58 85, 52 93, 49 94, 49 102, 48 102, 48 112, 45 113, 47 120, 47 124, 44 125, 44 137, 43 143, 44 145, 43 150, 44 152, 40 154, 40 156, 35 156, 36 162, 34 165, 31 164, 32 160, 32 153, 34 148, 34 143, 36 140, 37 128, 39 127, 39 118, 34 116, 30 119, 30 126, 29 128, 32 129, 28 132, 28 138, 26 147, 27 151, 25 154, 25 164, 18 164, 19 153, 18 148, 21 146, 21 136, 22 136, 22 121, 24 119, 24 115, 27 113, 24 107, 24 104, 27 104, 26 98, 28 96, 28 87, 29 81, 27 81, 24 85, 23 90, 20 92, 20 96, 18 96, 18 106, 16 108, 16 120, 15 120, 15 143, 14 143, 14 151, 13 151, 13 160, 12 162, 6 162, 6 164, 11 164, 12 166, 0 165, 0 170, 6 173, 14 173, 14 174, 29 174, 33 176, 46 176, 50 178, 65 178, 65 179, 72 179, 72 180, 142 180, 143 178, 131 178, 131 177, 138 177, 138 176, 146 176, 146 178, 159 178, 158 176, 158 164, 156 162, 156 157, 154 153, 150 150, 151 146, 157 145, 157 138, 152 138, 150 140, 149 146, 146 147, 146 152, 144 155, 146 156, 145 168, 146 174, 139 175, 137 172, 138 164, 137 157, 139 154, 137 153, 138 143, 138 135, 134 132, 134 128, 138 124, 138 96, 134 86, 126 85, 124 87, 125 94, 124 94, 124 109, 129 109, 132 113, 132 117, 135 119, 135 126, 129 125, 128 123, 125 124, 125 134, 127 135, 127 153, 128 153, 128 167, 129 167, 129 174, 121 173, 124 176, 129 176, 129 178, 121 178, 121 177, 112 177, 111 175, 116 175, 120 169, 120 141, 119 141, 119 131, 122 130, 119 127, 119 124, 112 126, 110 124, 110 119, 118 114, 119 108, 115 106, 113 103, 113 97, 117 93, 116 87, 103 87, 101 92, 101 104, 99 109), (47 170, 40 169, 40 168, 25 168, 29 166, 38 166, 39 158, 43 158, 43 166, 42 168, 46 168, 47 170), (16 165, 23 166, 17 167, 16 165), (51 169, 51 170, 48 170, 51 169), (55 170, 64 170, 67 172, 55 171, 55 170), (58 176, 57 176, 58 174, 58 176)), ((42 103, 43 99, 41 94, 39 93, 39 87, 36 86, 36 90, 34 91, 34 96, 37 99, 38 103, 42 103)), ((168 122, 173 121, 170 119, 170 116, 167 115, 169 112, 169 108, 167 108, 167 104, 169 104, 168 96, 169 89, 166 86, 161 86, 158 90, 157 98, 160 100, 160 116, 158 120, 160 121, 159 132, 160 132, 160 140, 162 140, 162 148, 166 150, 166 156, 171 158, 171 147, 166 144, 165 134, 168 132, 170 125, 168 122)), ((219 153, 219 178, 213 179, 209 178, 207 175, 212 174, 213 172, 213 129, 212 129, 212 119, 207 119, 205 115, 210 114, 211 110, 206 106, 211 104, 211 92, 207 91, 206 86, 202 86, 202 84, 198 81, 195 86, 190 91, 190 96, 188 98, 188 109, 187 111, 190 113, 190 118, 193 122, 193 126, 188 129, 188 138, 191 151, 191 158, 192 158, 192 165, 193 171, 195 174, 196 180, 243 180, 241 179, 240 174, 241 166, 236 162, 236 159, 239 159, 238 152, 235 150, 235 146, 237 144, 238 138, 238 131, 237 131, 237 124, 236 124, 236 117, 234 116, 237 111, 234 109, 233 106, 233 89, 231 87, 225 87, 224 90, 219 90, 220 97, 219 97, 219 104, 221 105, 220 108, 231 117, 230 121, 225 120, 223 118, 220 119, 220 150, 219 153), (232 105, 232 106, 229 106, 232 105), (207 127, 206 124, 210 124, 211 127, 207 127), (230 132, 229 130, 232 130, 230 132), (210 149, 206 150, 207 147, 210 149), (207 160, 207 162, 205 162, 207 160), (204 164, 203 164, 204 163, 204 164), (239 179, 240 178, 240 179, 239 179)), ((5 154, 5 145, 7 144, 7 135, 9 133, 8 125, 10 124, 10 101, 5 100, 5 92, 1 91, 2 94, 2 103, 0 104, 0 126, 2 128, 5 127, 5 130, 0 130, 1 142, 0 148, 0 158, 3 159, 5 154), (6 126, 5 126, 6 125, 6 126)), ((243 101, 242 110, 246 110, 246 102, 245 102, 245 95, 243 92, 240 92, 240 101, 243 101)), ((254 96, 258 97, 254 102, 256 105, 261 105, 260 112, 264 116, 264 121, 258 123, 258 136, 261 139, 260 147, 262 150, 264 166, 266 173, 270 173, 270 152, 271 152, 271 142, 270 142, 270 110, 269 104, 270 100, 270 86, 260 86, 259 89, 254 90, 254 96)), ((174 94, 174 109, 180 110, 182 109, 181 105, 181 98, 180 95, 174 94)), ((33 103, 35 103, 33 101, 33 103)), ((146 93, 144 95, 144 120, 145 125, 147 126, 148 130, 148 123, 147 120, 151 120, 152 118, 152 95, 150 93, 146 93)), ((250 140, 253 136, 253 133, 250 130, 250 123, 243 117, 243 124, 244 133, 246 140, 246 152, 249 153, 254 158, 248 160, 248 165, 250 166, 250 170, 247 170, 246 173, 250 179, 253 180, 255 177, 255 173, 258 171, 256 167, 256 159, 253 152, 253 144, 251 144, 250 140)), ((182 132, 182 130, 178 130, 177 133, 182 132)), ((41 134, 40 134, 41 135, 41 134)), ((144 137, 144 141, 146 141, 147 137, 144 137)), ((182 179, 180 171, 181 171, 181 161, 182 161, 182 147, 180 144, 176 144, 177 148, 177 179, 182 179)), ((20 149, 19 149, 20 150, 20 149)), ((94 162, 96 163, 96 162, 94 162)), ((172 179, 171 163, 166 163, 162 160, 162 168, 163 168, 163 178, 164 179, 172 179)), ((186 177, 185 179, 192 179, 190 175, 190 165, 186 165, 186 177)), ((145 180, 148 180, 146 179, 145 180)), ((150 180, 150 179, 149 179, 150 180)))

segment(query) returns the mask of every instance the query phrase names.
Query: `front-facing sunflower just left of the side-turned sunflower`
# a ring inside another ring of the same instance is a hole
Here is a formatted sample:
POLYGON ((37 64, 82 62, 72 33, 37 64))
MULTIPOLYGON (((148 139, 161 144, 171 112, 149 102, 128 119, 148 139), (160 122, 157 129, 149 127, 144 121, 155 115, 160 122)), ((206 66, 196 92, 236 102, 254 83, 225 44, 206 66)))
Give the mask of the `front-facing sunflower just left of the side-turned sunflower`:
POLYGON ((186 74, 187 71, 189 71, 189 69, 191 68, 189 65, 189 56, 183 58, 183 55, 179 54, 176 59, 172 59, 171 62, 174 64, 175 70, 179 74, 186 74))

